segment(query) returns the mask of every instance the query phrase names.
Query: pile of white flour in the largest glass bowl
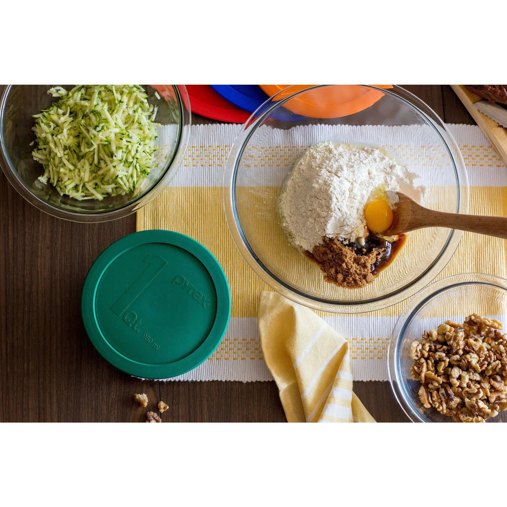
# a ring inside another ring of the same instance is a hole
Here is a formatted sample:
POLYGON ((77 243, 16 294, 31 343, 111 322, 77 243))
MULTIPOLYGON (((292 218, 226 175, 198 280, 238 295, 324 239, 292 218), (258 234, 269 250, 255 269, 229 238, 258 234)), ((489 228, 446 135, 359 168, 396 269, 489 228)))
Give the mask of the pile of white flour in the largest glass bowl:
POLYGON ((416 177, 379 149, 321 142, 304 153, 282 187, 281 225, 296 247, 310 252, 324 236, 354 241, 364 234, 372 191, 384 186, 420 200, 416 177))

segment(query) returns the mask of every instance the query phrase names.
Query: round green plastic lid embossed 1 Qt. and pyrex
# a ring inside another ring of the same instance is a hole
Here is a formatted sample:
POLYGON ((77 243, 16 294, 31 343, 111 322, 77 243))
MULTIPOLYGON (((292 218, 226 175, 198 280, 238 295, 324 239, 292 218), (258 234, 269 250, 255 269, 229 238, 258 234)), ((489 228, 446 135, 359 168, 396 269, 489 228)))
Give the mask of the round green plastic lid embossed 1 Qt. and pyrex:
POLYGON ((141 231, 94 262, 81 313, 104 359, 130 375, 163 379, 213 353, 227 329, 231 295, 219 262, 200 243, 172 231, 141 231))

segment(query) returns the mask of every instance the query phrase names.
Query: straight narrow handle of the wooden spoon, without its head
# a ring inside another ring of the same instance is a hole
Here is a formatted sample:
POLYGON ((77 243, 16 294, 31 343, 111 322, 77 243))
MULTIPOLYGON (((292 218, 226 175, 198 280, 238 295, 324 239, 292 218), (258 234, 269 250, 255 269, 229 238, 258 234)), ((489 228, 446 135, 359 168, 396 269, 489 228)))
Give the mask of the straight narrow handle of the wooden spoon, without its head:
POLYGON ((449 229, 507 239, 507 218, 503 216, 464 215, 432 211, 428 213, 426 219, 425 227, 448 227, 449 229))

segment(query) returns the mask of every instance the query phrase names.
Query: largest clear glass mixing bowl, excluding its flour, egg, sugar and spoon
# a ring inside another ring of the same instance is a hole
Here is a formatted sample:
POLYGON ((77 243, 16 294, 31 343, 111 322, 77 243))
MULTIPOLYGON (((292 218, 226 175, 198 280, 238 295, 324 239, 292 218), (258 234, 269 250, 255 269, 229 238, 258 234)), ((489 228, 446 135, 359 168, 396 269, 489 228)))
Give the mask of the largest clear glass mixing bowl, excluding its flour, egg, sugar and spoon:
POLYGON ((426 187, 425 205, 468 211, 468 180, 456 141, 417 97, 396 86, 293 86, 253 113, 227 161, 224 206, 241 255, 275 291, 318 310, 365 312, 413 296, 449 262, 460 231, 409 233, 394 261, 357 289, 325 282, 319 268, 289 244, 279 224, 280 188, 307 148, 322 141, 383 147, 420 174, 416 183, 426 187))

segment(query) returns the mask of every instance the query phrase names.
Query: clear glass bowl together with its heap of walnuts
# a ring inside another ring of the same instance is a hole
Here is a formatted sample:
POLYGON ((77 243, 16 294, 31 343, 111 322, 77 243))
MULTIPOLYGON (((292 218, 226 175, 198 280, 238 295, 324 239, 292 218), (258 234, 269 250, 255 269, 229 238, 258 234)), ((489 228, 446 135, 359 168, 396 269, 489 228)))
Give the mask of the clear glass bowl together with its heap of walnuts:
POLYGON ((443 278, 404 308, 388 372, 413 422, 507 422, 507 280, 443 278))

